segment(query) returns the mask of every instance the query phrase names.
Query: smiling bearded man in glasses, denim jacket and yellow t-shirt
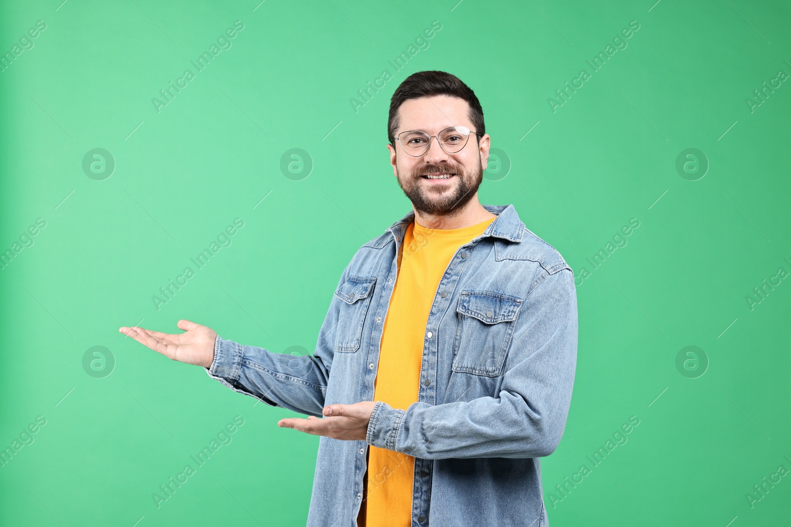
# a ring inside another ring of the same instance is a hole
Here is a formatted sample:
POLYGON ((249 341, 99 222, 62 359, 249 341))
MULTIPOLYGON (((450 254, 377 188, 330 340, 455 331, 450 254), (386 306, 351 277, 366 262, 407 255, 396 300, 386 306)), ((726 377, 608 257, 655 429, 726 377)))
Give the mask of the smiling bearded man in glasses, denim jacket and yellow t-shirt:
POLYGON ((480 204, 490 137, 464 82, 407 77, 388 137, 413 210, 343 270, 313 356, 186 320, 180 335, 121 331, 308 415, 278 425, 322 436, 310 526, 544 527, 538 458, 562 436, 577 359, 573 272, 513 205, 480 204))

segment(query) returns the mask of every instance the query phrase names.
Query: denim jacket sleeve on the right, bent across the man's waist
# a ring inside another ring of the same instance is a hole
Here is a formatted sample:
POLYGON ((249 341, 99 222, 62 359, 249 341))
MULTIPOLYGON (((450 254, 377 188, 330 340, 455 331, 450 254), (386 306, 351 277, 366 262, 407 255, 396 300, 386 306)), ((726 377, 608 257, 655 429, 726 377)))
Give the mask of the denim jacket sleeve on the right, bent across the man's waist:
POLYGON ((406 410, 377 401, 366 442, 422 459, 551 454, 566 427, 577 363, 571 269, 537 285, 516 323, 497 397, 415 402, 406 410))

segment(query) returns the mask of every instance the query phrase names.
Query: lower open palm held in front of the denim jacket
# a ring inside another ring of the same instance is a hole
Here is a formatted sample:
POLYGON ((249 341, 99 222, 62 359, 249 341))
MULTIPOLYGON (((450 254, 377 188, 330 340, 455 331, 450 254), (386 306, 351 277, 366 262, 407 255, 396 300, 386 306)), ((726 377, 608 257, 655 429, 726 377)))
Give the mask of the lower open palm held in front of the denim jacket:
POLYGON ((345 441, 365 441, 375 404, 375 401, 362 401, 354 405, 329 405, 322 411, 323 419, 315 416, 308 416, 308 419, 282 419, 278 421, 278 427, 345 441))

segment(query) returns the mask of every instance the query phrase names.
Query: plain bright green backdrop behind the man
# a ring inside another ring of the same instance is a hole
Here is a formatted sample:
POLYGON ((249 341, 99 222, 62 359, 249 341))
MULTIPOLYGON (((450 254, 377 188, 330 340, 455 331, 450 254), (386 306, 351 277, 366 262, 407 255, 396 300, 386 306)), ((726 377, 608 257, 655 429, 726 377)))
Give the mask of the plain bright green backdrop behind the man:
POLYGON ((542 460, 551 525, 788 521, 791 477, 752 506, 747 493, 791 469, 791 284, 745 298, 791 271, 791 85, 745 101, 791 73, 787 2, 216 4, 2 2, 2 54, 47 28, 0 73, 0 250, 46 221, 0 271, 0 447, 47 422, 0 469, 0 524, 305 524, 318 438, 276 426, 296 414, 118 328, 179 333, 187 318, 312 352, 355 250, 411 207, 386 124, 419 70, 475 90, 501 150, 480 201, 513 203, 577 275, 570 415, 542 460), (196 73, 190 61, 237 20, 232 47, 196 73), (432 21, 429 47, 395 71, 432 21), (585 61, 630 21, 628 46, 592 72, 585 61), (195 78, 157 112, 187 68, 195 78), (385 69, 392 80, 355 111, 385 69), (589 80, 553 112, 548 98, 582 69, 589 80), (97 148, 115 160, 102 180, 82 168, 97 148), (280 168, 293 148, 312 160, 307 177, 280 168), (688 148, 706 156, 702 179, 676 171, 688 148), (233 243, 157 310, 152 296, 237 217, 233 243), (586 258, 631 218, 626 246, 593 269, 586 258), (115 358, 104 378, 82 363, 97 345, 115 358), (702 367, 676 367, 688 345, 707 357, 697 378, 702 367), (233 441, 157 508, 152 493, 234 416, 233 441), (630 416, 628 442, 591 468, 630 416), (581 465, 589 475, 559 495, 581 465))

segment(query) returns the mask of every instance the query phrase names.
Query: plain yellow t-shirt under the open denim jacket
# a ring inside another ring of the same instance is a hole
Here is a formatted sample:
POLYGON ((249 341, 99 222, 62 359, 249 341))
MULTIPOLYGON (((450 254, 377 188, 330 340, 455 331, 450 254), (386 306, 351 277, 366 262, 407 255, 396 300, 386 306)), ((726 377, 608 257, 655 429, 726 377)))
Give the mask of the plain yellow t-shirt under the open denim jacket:
MULTIPOLYGON (((494 217, 456 229, 425 228, 413 221, 407 227, 398 256, 395 288, 384 319, 373 383, 374 401, 402 409, 418 401, 426 322, 442 273, 456 250, 483 233, 492 221, 494 217)), ((358 524, 409 527, 413 478, 414 457, 369 446, 365 497, 358 524)))

